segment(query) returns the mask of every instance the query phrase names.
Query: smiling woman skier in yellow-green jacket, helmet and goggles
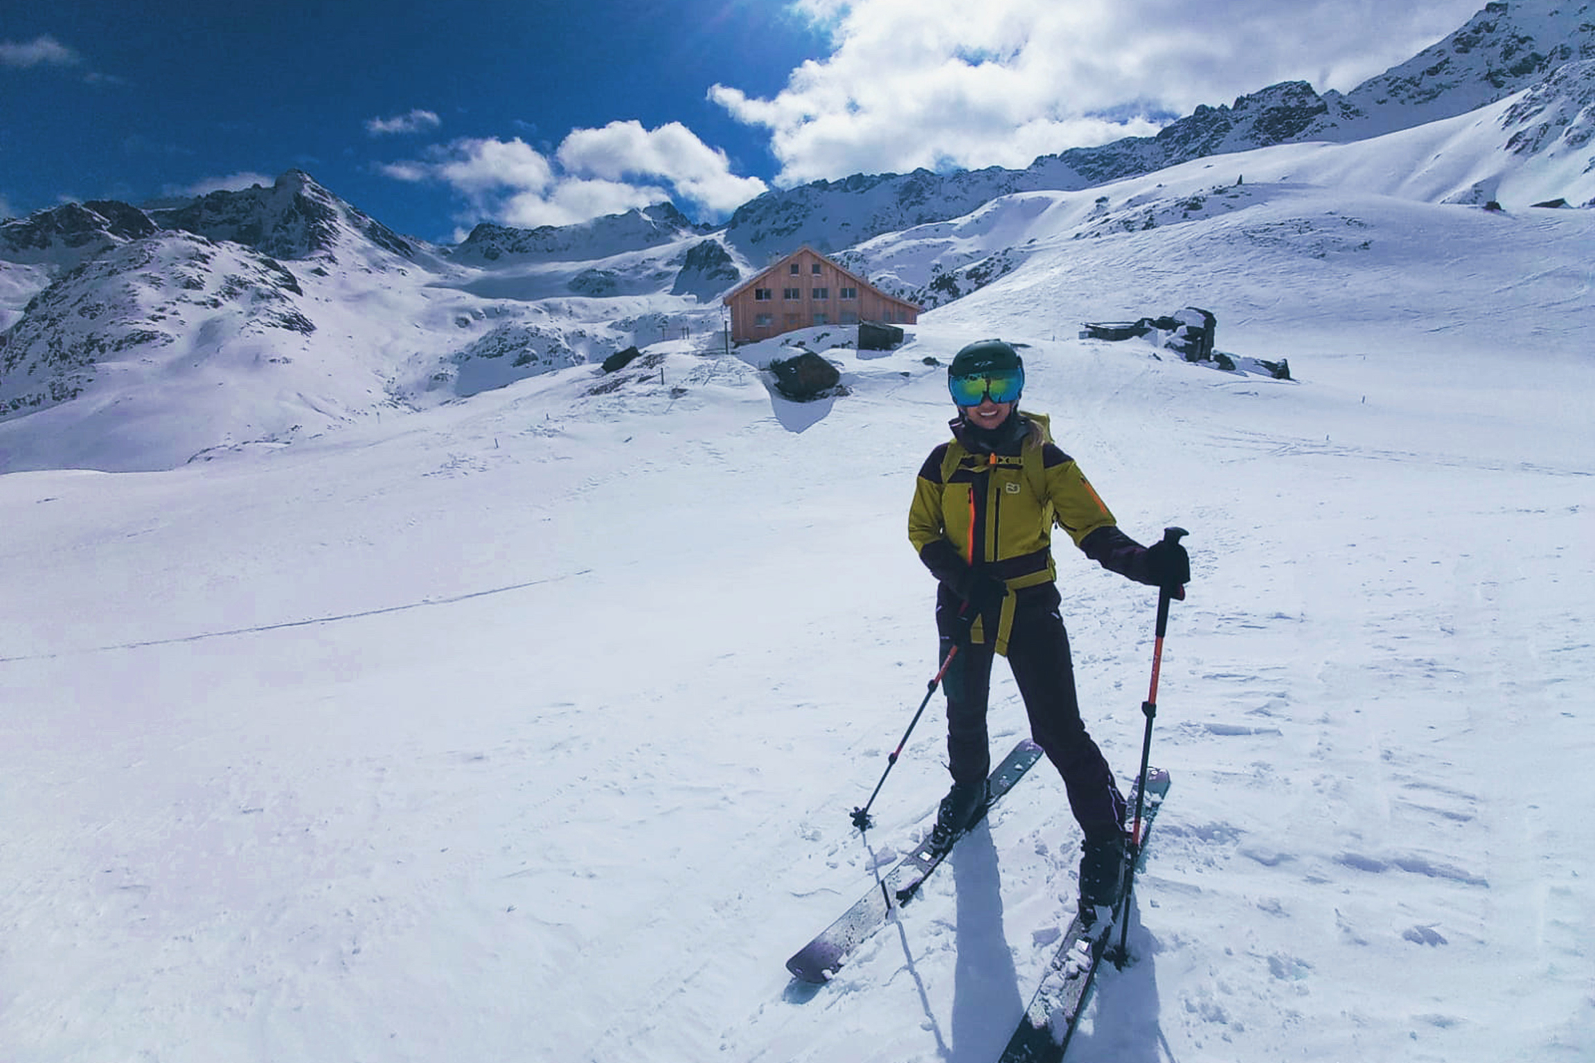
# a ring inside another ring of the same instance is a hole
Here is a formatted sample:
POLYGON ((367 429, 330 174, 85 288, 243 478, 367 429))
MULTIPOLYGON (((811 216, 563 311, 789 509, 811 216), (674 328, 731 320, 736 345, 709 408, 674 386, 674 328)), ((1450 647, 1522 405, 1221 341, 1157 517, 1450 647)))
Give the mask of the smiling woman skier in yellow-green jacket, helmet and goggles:
POLYGON ((933 840, 963 830, 986 805, 986 708, 994 653, 1003 653, 1030 733, 1064 776, 1085 832, 1080 910, 1113 905, 1128 838, 1124 798, 1080 719, 1053 523, 1102 567, 1168 586, 1176 598, 1185 596, 1190 559, 1177 542, 1147 548, 1121 532, 1080 467, 1050 441, 1046 416, 1019 411, 1024 362, 1013 344, 983 339, 959 351, 947 389, 959 408, 952 438, 920 467, 908 518, 909 542, 939 582, 938 660, 959 647, 943 677, 952 789, 933 840))

